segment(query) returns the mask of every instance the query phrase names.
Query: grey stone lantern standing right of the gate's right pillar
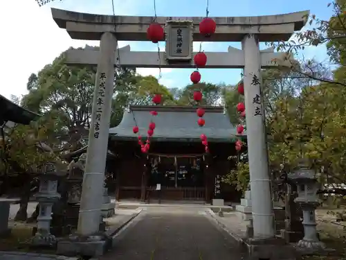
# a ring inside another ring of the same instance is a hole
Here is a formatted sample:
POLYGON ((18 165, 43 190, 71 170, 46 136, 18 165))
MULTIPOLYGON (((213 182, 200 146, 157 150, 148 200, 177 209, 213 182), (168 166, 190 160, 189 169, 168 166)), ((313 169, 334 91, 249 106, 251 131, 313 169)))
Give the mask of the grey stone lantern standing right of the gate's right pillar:
POLYGON ((296 170, 289 174, 289 179, 297 185, 298 197, 294 201, 300 205, 303 214, 304 237, 298 246, 311 250, 324 249, 325 245, 318 239, 316 231, 315 210, 320 201, 316 195, 319 185, 313 169, 300 162, 296 170))

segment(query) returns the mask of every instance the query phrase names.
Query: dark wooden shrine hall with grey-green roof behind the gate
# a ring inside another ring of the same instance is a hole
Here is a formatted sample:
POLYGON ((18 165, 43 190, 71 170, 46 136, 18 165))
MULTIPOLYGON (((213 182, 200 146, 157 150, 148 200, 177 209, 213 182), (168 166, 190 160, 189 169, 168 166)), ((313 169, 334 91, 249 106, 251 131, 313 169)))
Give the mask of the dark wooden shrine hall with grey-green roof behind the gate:
POLYGON ((206 125, 197 125, 196 107, 131 106, 122 121, 109 131, 109 150, 116 162, 107 162, 107 171, 116 180, 117 200, 188 200, 210 202, 215 196, 238 201, 239 192, 228 184, 215 182, 235 167, 228 157, 236 155, 236 130, 223 107, 203 107, 206 125), (149 112, 155 110, 157 116, 149 112), (141 153, 138 135, 146 139, 147 125, 156 129, 150 139, 149 153, 141 153), (205 153, 200 135, 208 137, 205 153))

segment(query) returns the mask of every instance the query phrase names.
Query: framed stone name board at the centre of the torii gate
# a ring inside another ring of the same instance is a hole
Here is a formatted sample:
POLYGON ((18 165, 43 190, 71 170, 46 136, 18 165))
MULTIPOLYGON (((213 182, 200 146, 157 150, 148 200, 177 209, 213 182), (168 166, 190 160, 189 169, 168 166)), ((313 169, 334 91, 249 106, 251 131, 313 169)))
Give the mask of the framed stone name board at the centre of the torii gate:
POLYGON ((166 59, 192 60, 192 21, 167 21, 166 59))

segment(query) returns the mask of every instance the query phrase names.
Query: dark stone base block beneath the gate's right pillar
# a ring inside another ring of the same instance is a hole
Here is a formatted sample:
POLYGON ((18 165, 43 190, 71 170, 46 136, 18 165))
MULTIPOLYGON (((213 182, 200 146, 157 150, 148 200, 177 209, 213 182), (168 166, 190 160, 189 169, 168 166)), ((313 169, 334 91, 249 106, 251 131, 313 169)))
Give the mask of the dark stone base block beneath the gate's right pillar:
POLYGON ((248 250, 248 260, 275 259, 295 260, 299 258, 298 252, 281 238, 272 239, 244 239, 248 250))

